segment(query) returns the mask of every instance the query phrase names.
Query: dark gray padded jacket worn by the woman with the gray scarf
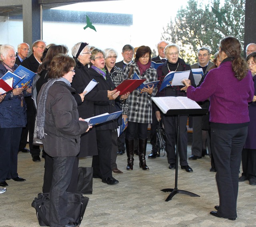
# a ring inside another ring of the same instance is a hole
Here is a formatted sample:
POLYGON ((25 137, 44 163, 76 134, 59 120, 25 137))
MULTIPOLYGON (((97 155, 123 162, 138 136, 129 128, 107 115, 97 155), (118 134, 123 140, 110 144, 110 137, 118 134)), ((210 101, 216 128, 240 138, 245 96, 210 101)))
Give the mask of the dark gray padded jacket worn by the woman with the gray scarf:
POLYGON ((46 134, 42 141, 45 152, 51 157, 76 156, 80 149, 80 135, 88 129, 87 122, 78 120, 77 103, 71 92, 74 89, 63 81, 56 81, 48 91, 44 125, 46 134))

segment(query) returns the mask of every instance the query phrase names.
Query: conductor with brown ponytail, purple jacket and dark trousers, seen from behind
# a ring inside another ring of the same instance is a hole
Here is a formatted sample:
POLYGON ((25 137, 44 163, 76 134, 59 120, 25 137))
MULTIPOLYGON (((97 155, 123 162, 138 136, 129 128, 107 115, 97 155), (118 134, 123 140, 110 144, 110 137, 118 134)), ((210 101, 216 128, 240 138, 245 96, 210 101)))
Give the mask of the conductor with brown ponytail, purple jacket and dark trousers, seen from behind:
POLYGON ((241 45, 227 37, 219 45, 220 66, 212 69, 200 87, 184 80, 188 98, 204 101, 210 97, 212 155, 217 170, 216 182, 220 203, 211 211, 215 217, 236 220, 238 174, 241 153, 246 140, 248 103, 253 99, 254 84, 246 61, 241 57, 241 45))

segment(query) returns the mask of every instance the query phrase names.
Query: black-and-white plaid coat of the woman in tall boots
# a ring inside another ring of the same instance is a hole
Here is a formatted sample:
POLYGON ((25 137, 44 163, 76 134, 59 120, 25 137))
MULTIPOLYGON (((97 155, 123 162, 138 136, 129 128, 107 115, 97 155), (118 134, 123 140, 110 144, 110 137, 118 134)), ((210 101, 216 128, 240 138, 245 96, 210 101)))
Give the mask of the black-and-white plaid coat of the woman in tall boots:
MULTIPOLYGON (((142 75, 136 62, 132 62, 124 68, 124 78, 128 79, 130 69, 132 68, 132 75, 134 72, 138 74, 140 79, 146 79, 144 83, 157 80, 156 69, 150 67, 142 75)), ((157 88, 154 87, 153 93, 149 95, 146 92, 140 93, 135 89, 128 97, 128 121, 138 123, 152 123, 152 101, 151 97, 154 97, 157 93, 157 88)))

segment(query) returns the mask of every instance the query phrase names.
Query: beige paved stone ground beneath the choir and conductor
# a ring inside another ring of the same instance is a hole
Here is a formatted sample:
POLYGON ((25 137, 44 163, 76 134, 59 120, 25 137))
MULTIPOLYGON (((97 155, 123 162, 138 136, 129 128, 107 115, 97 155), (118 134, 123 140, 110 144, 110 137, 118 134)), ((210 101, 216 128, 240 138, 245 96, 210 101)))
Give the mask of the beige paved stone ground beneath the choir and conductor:
MULTIPOLYGON (((190 146, 188 156, 191 155, 190 146)), ((147 155, 151 146, 148 144, 147 155)), ((80 160, 80 166, 90 166, 92 158, 80 160)), ((209 172, 210 158, 190 161, 193 173, 179 168, 178 189, 191 191, 200 197, 177 194, 164 201, 174 188, 175 171, 168 169, 166 156, 147 159, 148 171, 134 160, 134 170, 126 170, 126 154, 118 156, 118 168, 124 174, 113 174, 119 184, 108 186, 93 180, 93 193, 80 227, 256 227, 256 187, 248 181, 239 183, 238 218, 236 221, 209 214, 218 205, 215 174, 209 172)), ((44 160, 32 162, 30 154, 18 154, 18 173, 26 182, 8 181, 8 190, 0 195, 0 227, 39 227, 31 202, 42 191, 44 160)))

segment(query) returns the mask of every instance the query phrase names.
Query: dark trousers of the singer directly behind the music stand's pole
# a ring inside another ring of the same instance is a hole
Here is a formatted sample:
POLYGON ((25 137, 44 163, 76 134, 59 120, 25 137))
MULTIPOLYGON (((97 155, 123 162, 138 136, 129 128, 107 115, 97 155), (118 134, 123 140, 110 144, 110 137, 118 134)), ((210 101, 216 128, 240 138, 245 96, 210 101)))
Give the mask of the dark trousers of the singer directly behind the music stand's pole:
MULTIPOLYGON (((162 114, 162 120, 166 135, 166 154, 169 164, 176 163, 176 138, 177 138, 177 126, 178 116, 168 116, 162 114)), ((187 131, 188 116, 180 116, 179 124, 179 156, 180 165, 188 165, 187 161, 187 145, 188 145, 188 131, 187 131)))

